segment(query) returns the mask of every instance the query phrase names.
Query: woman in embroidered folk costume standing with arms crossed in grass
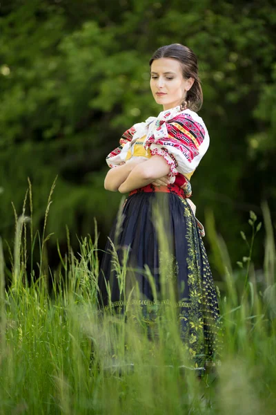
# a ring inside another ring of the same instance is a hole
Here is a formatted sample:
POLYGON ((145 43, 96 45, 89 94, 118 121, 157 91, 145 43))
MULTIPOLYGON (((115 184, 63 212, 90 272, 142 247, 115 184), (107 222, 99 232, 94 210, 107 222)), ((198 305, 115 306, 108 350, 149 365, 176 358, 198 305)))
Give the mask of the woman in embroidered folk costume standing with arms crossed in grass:
POLYGON ((158 314, 158 306, 168 295, 161 284, 162 270, 167 267, 165 279, 172 281, 181 338, 191 356, 197 356, 196 365, 202 366, 218 351, 219 310, 201 239, 204 230, 195 219, 193 203, 188 203, 190 177, 209 145, 206 126, 196 113, 203 96, 193 51, 181 44, 159 48, 150 59, 150 88, 163 111, 128 129, 120 147, 107 157, 111 169, 104 182, 106 190, 129 196, 101 264, 101 303, 119 308, 140 304, 148 319, 154 318, 150 316, 158 314), (161 252, 164 243, 156 215, 163 219, 169 255, 161 252), (114 248, 117 268, 111 253, 114 248), (122 282, 117 274, 124 259, 128 272, 122 282))

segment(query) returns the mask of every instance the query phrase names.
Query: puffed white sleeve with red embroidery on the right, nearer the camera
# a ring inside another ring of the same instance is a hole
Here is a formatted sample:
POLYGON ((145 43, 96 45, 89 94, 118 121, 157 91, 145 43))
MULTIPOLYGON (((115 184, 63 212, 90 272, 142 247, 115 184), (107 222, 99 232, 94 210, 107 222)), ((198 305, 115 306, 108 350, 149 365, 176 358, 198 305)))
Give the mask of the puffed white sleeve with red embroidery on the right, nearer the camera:
POLYGON ((209 146, 206 126, 197 113, 186 110, 172 120, 157 120, 150 126, 145 147, 153 156, 164 157, 169 176, 195 171, 209 146))

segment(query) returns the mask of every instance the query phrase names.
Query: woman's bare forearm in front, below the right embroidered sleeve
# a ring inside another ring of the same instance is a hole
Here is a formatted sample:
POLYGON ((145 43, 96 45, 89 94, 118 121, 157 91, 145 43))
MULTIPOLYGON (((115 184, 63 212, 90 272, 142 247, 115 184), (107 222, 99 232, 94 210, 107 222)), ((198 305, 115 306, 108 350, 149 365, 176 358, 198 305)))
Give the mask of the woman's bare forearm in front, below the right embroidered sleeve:
POLYGON ((170 167, 161 156, 152 156, 145 163, 135 166, 128 174, 128 177, 119 186, 120 193, 131 192, 146 186, 157 178, 166 176, 170 172, 170 167))

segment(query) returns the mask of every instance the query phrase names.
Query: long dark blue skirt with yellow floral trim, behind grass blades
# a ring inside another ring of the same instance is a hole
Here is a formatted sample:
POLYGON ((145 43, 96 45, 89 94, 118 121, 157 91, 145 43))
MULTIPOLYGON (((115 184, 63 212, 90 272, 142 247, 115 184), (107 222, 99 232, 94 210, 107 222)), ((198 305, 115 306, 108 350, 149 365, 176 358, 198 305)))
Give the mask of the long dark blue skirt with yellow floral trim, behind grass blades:
POLYGON ((103 255, 99 303, 141 307, 152 323, 174 306, 179 333, 196 366, 219 354, 219 308, 206 250, 190 205, 173 193, 126 199, 103 255))

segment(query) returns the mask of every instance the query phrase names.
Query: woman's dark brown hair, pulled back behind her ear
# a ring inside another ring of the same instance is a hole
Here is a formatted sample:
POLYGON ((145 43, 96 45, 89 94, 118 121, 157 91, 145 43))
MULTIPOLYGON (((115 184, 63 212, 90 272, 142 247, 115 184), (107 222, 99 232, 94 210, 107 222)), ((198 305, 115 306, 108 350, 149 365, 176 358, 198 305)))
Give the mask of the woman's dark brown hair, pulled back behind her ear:
POLYGON ((186 100, 181 102, 181 107, 199 111, 203 102, 203 93, 198 75, 197 56, 193 50, 181 44, 161 46, 150 58, 150 66, 155 59, 160 59, 161 57, 177 59, 182 66, 183 77, 185 79, 192 77, 195 80, 191 89, 187 91, 186 100))

